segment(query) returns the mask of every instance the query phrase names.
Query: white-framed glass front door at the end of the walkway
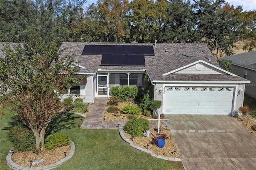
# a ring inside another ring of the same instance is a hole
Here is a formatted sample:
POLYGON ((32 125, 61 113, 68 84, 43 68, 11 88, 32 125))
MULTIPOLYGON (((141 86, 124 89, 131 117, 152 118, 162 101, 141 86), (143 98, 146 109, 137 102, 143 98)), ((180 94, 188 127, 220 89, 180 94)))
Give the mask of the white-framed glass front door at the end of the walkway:
POLYGON ((98 97, 108 97, 108 74, 98 74, 98 97))

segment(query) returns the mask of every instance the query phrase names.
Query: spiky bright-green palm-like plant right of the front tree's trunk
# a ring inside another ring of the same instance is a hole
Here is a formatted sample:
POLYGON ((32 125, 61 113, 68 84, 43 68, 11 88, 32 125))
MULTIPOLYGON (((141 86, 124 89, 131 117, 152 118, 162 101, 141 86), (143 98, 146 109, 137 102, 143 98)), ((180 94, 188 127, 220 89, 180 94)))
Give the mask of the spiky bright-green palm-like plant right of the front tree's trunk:
POLYGON ((46 150, 54 151, 57 147, 67 146, 70 144, 71 142, 69 140, 68 135, 64 132, 54 133, 44 140, 44 147, 46 150))

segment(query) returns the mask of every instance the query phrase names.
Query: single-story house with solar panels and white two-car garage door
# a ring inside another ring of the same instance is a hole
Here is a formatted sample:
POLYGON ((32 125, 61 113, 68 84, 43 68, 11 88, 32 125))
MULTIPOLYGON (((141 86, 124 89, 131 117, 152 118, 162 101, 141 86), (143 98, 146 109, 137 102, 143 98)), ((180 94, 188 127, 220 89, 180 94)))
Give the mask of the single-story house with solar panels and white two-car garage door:
POLYGON ((148 74, 160 112, 184 115, 234 115, 243 105, 247 79, 224 69, 205 44, 63 42, 62 55, 75 55, 78 75, 89 77, 68 93, 86 103, 110 97, 114 86, 144 87, 148 74))

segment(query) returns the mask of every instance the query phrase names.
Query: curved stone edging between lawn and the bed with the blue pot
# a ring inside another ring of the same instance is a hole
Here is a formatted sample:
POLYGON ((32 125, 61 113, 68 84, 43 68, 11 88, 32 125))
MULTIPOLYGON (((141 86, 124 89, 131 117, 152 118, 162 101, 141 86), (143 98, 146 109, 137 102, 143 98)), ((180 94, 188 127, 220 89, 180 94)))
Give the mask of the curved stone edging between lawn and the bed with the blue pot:
POLYGON ((173 158, 173 157, 160 156, 160 155, 154 154, 154 152, 151 151, 151 150, 138 147, 138 146, 135 145, 131 140, 129 140, 128 138, 126 138, 126 136, 124 136, 123 127, 119 127, 119 134, 120 134, 121 138, 122 138, 126 143, 128 143, 130 146, 134 147, 135 149, 140 150, 141 152, 144 152, 144 153, 146 153, 146 154, 150 154, 151 156, 154 156, 154 157, 160 158, 160 159, 164 159, 164 160, 181 161, 181 158, 173 158))

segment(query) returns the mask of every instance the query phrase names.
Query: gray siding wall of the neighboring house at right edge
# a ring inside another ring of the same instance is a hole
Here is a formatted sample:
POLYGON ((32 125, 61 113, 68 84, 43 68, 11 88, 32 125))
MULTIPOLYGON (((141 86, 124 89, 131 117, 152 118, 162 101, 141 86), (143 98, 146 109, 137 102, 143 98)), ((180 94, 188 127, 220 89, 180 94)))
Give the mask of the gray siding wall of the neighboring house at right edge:
POLYGON ((247 78, 251 83, 245 85, 245 92, 256 98, 256 71, 251 69, 246 69, 244 67, 239 67, 237 65, 232 65, 231 73, 244 77, 244 70, 247 70, 247 78))

